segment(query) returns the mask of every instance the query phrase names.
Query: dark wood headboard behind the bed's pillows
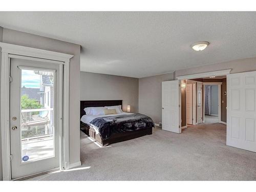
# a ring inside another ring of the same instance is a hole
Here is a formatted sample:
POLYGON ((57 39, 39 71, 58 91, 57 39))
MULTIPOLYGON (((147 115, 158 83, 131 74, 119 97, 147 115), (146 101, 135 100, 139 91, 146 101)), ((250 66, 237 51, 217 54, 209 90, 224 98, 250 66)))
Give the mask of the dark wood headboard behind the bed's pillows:
POLYGON ((84 108, 89 108, 91 106, 114 106, 114 105, 122 105, 123 107, 123 100, 80 101, 80 118, 83 115, 86 115, 86 112, 83 110, 84 108))

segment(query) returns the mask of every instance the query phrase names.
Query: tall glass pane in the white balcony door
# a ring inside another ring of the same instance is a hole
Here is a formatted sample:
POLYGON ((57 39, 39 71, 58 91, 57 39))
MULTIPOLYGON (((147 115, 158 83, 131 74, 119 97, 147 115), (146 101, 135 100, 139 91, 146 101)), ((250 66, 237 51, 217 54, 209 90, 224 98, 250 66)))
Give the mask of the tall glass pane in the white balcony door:
POLYGON ((55 72, 20 71, 21 161, 54 157, 55 72))

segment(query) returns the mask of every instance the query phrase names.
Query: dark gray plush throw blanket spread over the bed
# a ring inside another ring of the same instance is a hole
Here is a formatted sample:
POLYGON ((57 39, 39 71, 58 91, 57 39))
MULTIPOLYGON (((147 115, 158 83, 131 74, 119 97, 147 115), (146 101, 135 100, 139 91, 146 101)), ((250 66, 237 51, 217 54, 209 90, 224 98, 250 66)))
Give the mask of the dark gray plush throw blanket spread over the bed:
POLYGON ((95 126, 103 139, 108 139, 112 133, 130 132, 155 126, 150 117, 140 113, 98 117, 90 124, 95 126))

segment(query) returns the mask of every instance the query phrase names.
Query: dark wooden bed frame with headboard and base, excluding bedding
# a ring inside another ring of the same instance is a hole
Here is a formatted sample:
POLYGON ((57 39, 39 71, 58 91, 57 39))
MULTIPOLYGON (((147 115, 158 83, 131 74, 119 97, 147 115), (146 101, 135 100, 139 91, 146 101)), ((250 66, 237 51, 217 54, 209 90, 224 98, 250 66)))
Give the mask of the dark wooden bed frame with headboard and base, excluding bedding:
MULTIPOLYGON (((86 112, 84 112, 83 110, 84 108, 92 107, 92 106, 113 106, 113 105, 122 106, 122 100, 80 101, 80 118, 86 114, 86 112)), ((90 127, 89 124, 86 124, 80 121, 80 129, 83 133, 90 136, 93 140, 95 140, 101 146, 106 146, 111 143, 117 143, 121 141, 134 139, 144 135, 152 135, 152 131, 153 131, 153 127, 148 127, 147 129, 137 130, 133 132, 113 133, 110 138, 102 139, 100 135, 97 135, 95 133, 95 130, 92 127, 90 127)))

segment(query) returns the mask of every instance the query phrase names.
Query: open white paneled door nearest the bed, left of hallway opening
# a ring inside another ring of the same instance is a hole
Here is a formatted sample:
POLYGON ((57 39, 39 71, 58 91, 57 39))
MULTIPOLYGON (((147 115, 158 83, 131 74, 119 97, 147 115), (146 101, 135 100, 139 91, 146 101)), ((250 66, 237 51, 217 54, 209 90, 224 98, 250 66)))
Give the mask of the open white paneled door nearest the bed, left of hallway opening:
POLYGON ((181 133, 179 80, 162 82, 162 130, 181 133))

